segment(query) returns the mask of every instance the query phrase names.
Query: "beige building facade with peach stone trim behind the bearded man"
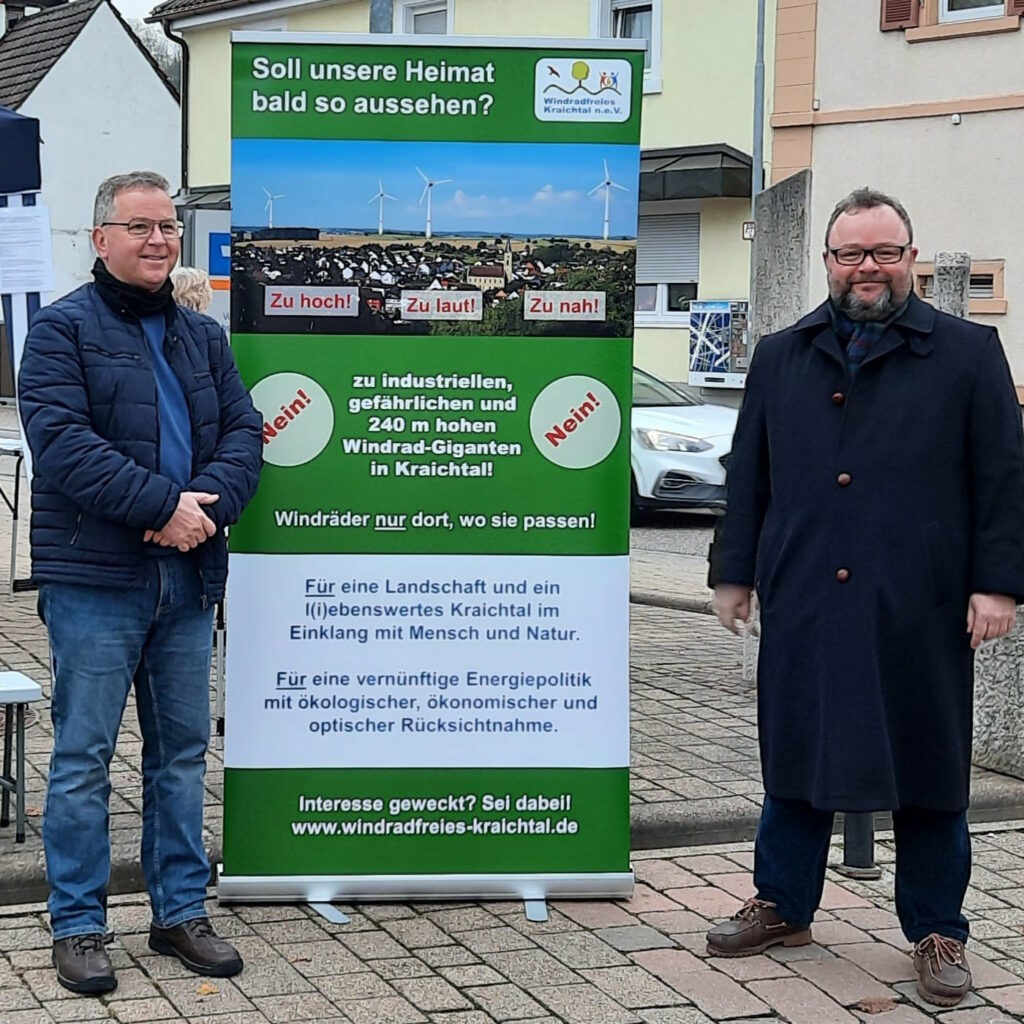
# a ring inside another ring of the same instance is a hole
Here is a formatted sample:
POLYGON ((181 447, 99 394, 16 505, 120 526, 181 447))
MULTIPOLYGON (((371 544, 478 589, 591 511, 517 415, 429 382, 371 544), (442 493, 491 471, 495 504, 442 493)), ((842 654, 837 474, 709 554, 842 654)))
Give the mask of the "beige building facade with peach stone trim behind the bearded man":
MULTIPOLYGON (((812 245, 835 203, 897 196, 931 294, 936 251, 972 257, 970 315, 1024 384, 1024 0, 778 0, 773 179, 812 171, 812 245)), ((810 300, 825 295, 812 255, 810 300)))

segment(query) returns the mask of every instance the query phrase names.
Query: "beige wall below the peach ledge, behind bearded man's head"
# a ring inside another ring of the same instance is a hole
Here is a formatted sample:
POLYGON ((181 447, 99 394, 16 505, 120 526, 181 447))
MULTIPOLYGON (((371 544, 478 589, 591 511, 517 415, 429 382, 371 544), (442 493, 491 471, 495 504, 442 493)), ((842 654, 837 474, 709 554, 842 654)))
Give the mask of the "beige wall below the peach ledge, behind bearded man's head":
POLYGON ((816 127, 812 305, 826 295, 819 254, 833 207, 852 188, 872 185, 906 207, 919 259, 961 250, 975 260, 1006 260, 1007 313, 972 319, 998 329, 1014 378, 1024 383, 1022 168, 1024 111, 965 114, 956 126, 949 118, 921 118, 816 127))

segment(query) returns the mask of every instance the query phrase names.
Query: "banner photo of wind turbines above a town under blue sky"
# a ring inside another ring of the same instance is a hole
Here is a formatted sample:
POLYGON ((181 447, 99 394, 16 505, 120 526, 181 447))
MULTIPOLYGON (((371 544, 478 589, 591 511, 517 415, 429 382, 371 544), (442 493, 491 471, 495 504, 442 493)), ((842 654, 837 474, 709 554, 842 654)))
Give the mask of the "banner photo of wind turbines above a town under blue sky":
POLYGON ((638 179, 629 145, 236 139, 234 330, 628 336, 638 179), (266 316, 281 286, 358 287, 359 315, 266 316), (561 289, 603 292, 605 321, 523 317, 561 289), (407 290, 482 293, 483 316, 403 321, 407 290))

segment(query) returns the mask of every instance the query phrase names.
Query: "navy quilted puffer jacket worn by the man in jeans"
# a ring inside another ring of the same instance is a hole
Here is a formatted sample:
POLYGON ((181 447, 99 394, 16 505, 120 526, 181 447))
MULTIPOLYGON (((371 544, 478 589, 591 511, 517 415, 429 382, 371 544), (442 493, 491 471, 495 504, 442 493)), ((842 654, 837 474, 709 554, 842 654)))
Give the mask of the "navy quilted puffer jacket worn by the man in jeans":
MULTIPOLYGON (((217 601, 227 579, 222 527, 256 490, 262 419, 212 319, 176 307, 164 351, 191 420, 184 489, 220 496, 205 511, 221 528, 196 549, 205 601, 217 601)), ((181 488, 157 472, 157 384, 138 318, 83 285, 33 321, 17 385, 32 451, 33 579, 141 583, 152 557, 142 537, 170 519, 181 488)))

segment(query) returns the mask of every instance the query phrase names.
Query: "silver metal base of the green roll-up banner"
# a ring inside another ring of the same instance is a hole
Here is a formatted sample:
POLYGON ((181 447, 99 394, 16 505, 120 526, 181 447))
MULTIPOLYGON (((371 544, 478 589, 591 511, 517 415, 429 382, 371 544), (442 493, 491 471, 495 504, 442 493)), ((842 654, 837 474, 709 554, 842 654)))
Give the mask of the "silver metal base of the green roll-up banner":
MULTIPOLYGON (((633 871, 593 874, 224 874, 222 903, 333 903, 367 900, 629 899, 633 871)), ((530 919, 532 920, 532 919, 530 919)))

